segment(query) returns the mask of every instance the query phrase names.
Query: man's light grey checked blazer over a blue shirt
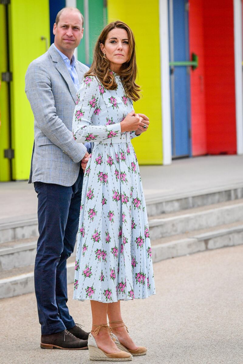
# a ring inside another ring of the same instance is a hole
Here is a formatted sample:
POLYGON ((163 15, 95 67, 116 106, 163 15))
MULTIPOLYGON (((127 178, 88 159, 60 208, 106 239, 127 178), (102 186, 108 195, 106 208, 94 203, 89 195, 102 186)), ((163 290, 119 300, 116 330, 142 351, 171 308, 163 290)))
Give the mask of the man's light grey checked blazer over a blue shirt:
MULTIPOLYGON (((75 69, 81 82, 89 68, 76 61, 75 69)), ((35 135, 29 183, 72 186, 87 149, 72 136, 77 90, 54 44, 31 62, 25 91, 34 114, 35 135)))

